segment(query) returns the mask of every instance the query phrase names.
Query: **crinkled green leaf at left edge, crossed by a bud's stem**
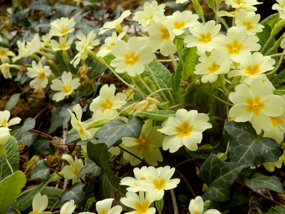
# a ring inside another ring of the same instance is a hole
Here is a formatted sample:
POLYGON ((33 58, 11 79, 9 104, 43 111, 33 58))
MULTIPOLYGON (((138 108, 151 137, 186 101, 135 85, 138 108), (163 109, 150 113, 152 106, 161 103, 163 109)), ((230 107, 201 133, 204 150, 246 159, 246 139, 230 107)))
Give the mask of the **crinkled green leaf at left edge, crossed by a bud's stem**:
MULTIPOLYGON (((14 171, 19 169, 20 153, 19 153, 19 143, 11 136, 9 141, 4 145, 7 152, 7 159, 14 171)), ((11 170, 6 160, 0 156, 0 180, 11 175, 11 170)))

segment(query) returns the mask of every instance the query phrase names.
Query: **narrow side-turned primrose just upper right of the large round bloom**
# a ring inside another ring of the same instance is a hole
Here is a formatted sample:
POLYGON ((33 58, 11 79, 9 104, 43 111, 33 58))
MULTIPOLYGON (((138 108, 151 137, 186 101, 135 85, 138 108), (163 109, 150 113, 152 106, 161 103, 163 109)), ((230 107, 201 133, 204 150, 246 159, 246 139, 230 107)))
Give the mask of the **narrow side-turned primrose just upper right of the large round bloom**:
POLYGON ((150 34, 147 38, 147 46, 151 46, 153 52, 160 49, 163 56, 175 54, 176 46, 173 44, 173 39, 175 39, 174 25, 163 13, 155 13, 155 17, 150 20, 147 32, 150 34))

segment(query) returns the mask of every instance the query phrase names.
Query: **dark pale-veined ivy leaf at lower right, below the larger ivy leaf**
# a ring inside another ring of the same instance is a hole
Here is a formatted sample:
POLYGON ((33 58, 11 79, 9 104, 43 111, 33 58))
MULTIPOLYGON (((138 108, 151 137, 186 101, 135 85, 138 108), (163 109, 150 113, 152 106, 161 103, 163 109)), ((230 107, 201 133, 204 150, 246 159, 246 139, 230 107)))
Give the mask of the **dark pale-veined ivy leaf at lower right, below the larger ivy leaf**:
POLYGON ((207 194, 215 201, 230 199, 230 187, 244 168, 240 163, 219 161, 216 155, 204 161, 200 168, 200 178, 208 185, 207 194))

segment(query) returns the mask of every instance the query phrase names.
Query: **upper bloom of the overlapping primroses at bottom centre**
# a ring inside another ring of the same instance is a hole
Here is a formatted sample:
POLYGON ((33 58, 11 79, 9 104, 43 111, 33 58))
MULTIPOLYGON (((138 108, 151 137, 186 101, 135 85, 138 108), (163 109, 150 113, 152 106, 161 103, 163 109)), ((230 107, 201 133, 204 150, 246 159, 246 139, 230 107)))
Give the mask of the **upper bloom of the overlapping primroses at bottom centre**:
POLYGON ((177 187, 180 183, 179 178, 170 179, 175 173, 175 168, 165 167, 154 168, 153 166, 143 170, 145 180, 138 180, 139 186, 148 187, 148 190, 157 190, 155 200, 160 200, 165 194, 165 190, 170 190, 177 187))

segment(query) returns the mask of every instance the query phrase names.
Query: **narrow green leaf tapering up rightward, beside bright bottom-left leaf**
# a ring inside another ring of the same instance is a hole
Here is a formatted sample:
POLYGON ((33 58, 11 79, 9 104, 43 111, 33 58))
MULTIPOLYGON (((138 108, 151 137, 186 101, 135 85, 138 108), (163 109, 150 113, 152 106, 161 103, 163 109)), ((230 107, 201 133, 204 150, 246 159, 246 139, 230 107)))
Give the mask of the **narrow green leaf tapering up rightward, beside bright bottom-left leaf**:
POLYGON ((54 175, 56 175, 56 173, 51 174, 46 181, 37 185, 35 188, 33 188, 33 190, 18 198, 18 200, 16 200, 16 203, 14 203, 15 208, 23 213, 29 213, 31 210, 31 205, 33 203, 33 198, 36 196, 36 194, 41 193, 41 191, 46 188, 46 185, 48 185, 54 175))

